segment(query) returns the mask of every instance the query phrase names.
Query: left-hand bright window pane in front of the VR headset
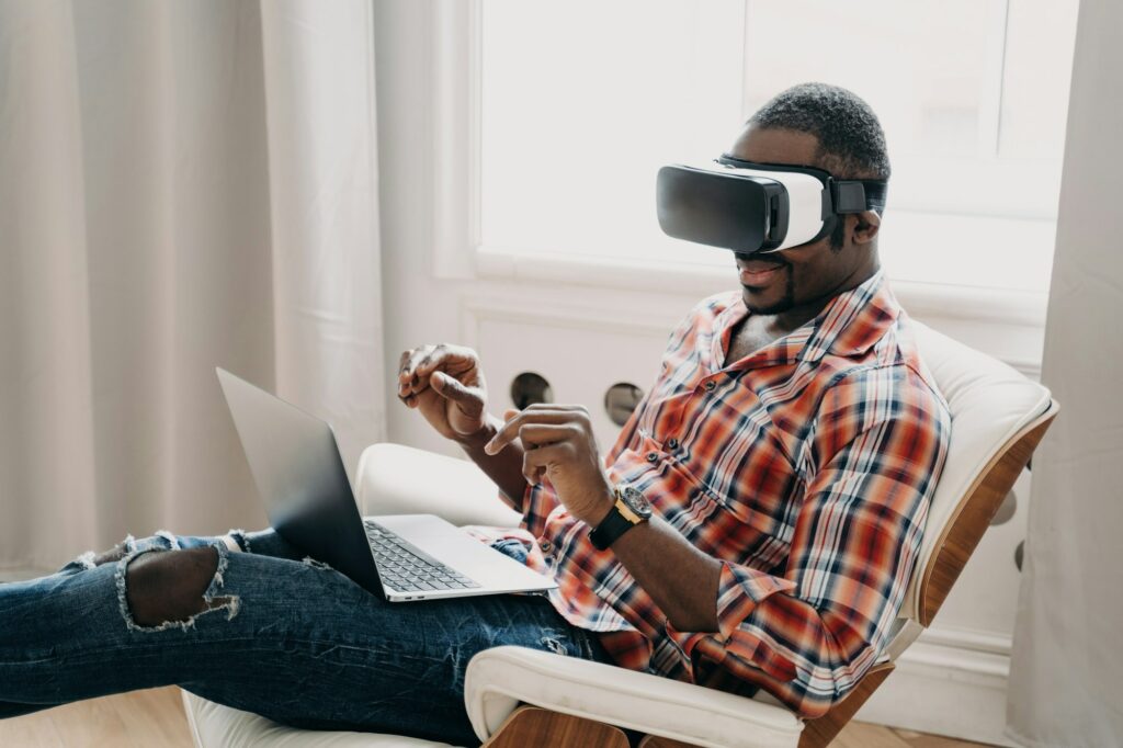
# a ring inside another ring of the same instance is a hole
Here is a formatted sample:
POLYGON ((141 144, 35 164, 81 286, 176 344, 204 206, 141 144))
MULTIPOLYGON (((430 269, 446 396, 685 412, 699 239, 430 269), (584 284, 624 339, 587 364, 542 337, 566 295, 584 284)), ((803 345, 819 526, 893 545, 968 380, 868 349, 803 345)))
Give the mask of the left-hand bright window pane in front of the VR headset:
POLYGON ((655 216, 667 163, 740 126, 741 0, 483 3, 485 245, 729 264, 655 216))

